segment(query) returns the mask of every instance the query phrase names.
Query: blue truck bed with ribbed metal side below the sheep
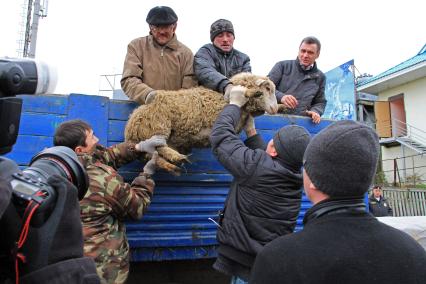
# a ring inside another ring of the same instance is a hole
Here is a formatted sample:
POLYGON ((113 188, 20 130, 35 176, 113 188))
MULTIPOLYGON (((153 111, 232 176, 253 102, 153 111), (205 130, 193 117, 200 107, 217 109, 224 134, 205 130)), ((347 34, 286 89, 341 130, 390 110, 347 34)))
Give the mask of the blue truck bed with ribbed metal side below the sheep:
MULTIPOLYGON (((24 100, 18 141, 7 156, 21 168, 31 157, 52 146, 55 128, 63 121, 80 118, 89 122, 103 145, 123 141, 124 126, 133 102, 83 94, 20 96, 24 100)), ((256 128, 265 141, 276 129, 287 125, 304 126, 311 134, 331 123, 315 125, 309 118, 288 115, 263 115, 256 128)), ((163 261, 212 258, 216 256, 216 219, 222 209, 232 177, 216 161, 209 148, 193 149, 191 163, 181 176, 158 172, 152 204, 139 222, 127 222, 132 261, 163 261)), ((134 162, 120 169, 131 181, 143 164, 134 162)), ((310 207, 303 197, 297 230, 310 207)))

